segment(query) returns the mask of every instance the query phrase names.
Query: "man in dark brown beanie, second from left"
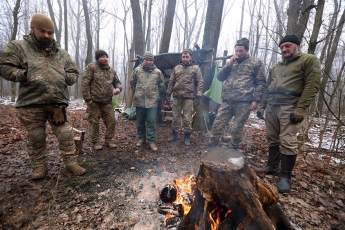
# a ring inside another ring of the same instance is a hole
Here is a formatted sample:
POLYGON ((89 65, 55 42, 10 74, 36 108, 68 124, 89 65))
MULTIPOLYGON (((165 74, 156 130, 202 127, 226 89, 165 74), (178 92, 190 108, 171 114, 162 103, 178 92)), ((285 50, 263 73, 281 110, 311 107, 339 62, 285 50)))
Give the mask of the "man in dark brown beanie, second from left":
POLYGON ((122 86, 116 71, 108 64, 108 54, 101 49, 95 52, 96 61, 86 65, 82 79, 82 97, 86 101, 86 117, 89 123, 89 134, 93 148, 102 149, 99 140, 99 119, 102 118, 105 125, 104 145, 114 148, 112 142, 115 133, 114 109, 112 107, 112 95, 121 92, 122 86), (115 88, 115 90, 112 90, 115 88))

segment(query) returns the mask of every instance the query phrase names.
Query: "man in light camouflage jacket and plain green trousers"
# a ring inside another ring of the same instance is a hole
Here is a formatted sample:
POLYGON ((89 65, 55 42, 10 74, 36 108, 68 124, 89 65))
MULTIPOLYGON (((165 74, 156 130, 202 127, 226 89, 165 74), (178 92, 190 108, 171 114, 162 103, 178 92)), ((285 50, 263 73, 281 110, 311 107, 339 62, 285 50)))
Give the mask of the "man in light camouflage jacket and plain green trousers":
POLYGON ((158 105, 159 93, 165 93, 164 77, 161 71, 153 64, 153 53, 146 51, 143 63, 136 67, 130 76, 130 88, 134 93, 133 106, 136 110, 136 131, 140 147, 144 141, 152 151, 158 148, 154 144, 156 133, 155 114, 158 105))

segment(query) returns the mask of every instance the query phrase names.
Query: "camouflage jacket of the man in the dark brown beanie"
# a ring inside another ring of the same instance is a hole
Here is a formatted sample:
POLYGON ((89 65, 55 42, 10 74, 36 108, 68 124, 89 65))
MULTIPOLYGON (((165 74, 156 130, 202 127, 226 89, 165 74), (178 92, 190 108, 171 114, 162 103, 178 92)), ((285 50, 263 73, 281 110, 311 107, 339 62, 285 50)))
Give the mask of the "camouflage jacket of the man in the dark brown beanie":
POLYGON ((85 101, 110 103, 113 87, 122 90, 113 68, 108 64, 102 66, 98 61, 86 65, 81 79, 82 98, 85 101))

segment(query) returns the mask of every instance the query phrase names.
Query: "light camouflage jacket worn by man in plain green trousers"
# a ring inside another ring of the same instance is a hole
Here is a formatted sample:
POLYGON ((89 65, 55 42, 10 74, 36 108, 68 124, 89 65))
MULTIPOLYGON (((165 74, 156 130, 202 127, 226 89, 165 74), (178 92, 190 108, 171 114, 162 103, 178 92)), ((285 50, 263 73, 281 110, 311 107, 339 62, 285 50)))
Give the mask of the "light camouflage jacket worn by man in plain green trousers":
POLYGON ((129 84, 134 93, 133 106, 137 107, 157 107, 159 93, 166 91, 163 74, 154 64, 151 69, 144 68, 143 63, 134 68, 129 84))

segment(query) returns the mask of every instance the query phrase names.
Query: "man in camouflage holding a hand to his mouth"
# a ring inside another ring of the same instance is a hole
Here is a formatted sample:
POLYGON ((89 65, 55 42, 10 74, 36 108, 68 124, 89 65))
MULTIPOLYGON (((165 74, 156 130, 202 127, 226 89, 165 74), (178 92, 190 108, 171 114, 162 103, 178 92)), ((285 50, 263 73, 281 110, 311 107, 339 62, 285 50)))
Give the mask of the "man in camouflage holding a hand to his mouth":
POLYGON ((261 60, 248 55, 249 40, 237 40, 235 54, 217 74, 224 81, 222 103, 212 125, 208 148, 215 147, 222 130, 234 116, 229 147, 237 148, 250 111, 257 108, 266 82, 261 60))

